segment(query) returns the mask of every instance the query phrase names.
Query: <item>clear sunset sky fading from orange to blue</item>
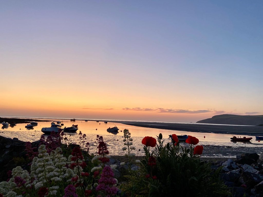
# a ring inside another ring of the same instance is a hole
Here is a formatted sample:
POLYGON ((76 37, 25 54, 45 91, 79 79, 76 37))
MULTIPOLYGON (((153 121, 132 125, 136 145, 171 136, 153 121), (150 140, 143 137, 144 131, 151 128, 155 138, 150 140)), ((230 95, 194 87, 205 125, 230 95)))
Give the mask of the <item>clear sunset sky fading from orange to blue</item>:
POLYGON ((263 114, 263 1, 0 1, 0 115, 263 114))

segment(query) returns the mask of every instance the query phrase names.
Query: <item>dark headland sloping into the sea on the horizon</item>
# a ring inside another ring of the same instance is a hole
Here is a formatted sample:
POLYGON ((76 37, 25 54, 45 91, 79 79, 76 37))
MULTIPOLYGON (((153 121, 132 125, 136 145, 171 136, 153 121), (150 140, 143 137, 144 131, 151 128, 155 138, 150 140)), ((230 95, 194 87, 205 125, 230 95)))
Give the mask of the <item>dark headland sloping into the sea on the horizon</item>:
POLYGON ((223 114, 213 116, 205 120, 197 121, 196 123, 224 124, 224 125, 263 125, 263 115, 257 116, 241 116, 232 114, 223 114))

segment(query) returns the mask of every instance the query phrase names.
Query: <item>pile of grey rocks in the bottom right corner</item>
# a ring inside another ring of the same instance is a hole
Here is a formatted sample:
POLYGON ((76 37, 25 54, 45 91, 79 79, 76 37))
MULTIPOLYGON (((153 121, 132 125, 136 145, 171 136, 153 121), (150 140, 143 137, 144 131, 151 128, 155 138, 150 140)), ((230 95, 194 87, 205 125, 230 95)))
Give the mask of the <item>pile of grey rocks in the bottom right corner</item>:
POLYGON ((263 161, 260 156, 244 153, 236 157, 235 160, 213 163, 212 168, 221 168, 221 179, 231 188, 232 196, 263 196, 263 161))

